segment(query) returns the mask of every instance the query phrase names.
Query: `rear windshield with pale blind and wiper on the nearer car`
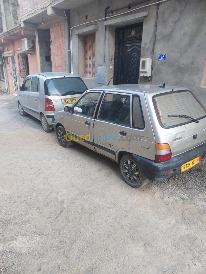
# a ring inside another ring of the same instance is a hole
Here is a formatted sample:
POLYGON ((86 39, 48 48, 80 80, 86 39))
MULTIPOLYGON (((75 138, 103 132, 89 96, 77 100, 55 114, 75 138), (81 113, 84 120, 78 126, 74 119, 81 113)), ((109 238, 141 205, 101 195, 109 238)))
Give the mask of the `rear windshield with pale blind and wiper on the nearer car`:
POLYGON ((169 92, 153 96, 157 117, 163 127, 176 127, 193 122, 191 118, 170 117, 187 115, 194 119, 206 117, 206 111, 190 91, 169 92))

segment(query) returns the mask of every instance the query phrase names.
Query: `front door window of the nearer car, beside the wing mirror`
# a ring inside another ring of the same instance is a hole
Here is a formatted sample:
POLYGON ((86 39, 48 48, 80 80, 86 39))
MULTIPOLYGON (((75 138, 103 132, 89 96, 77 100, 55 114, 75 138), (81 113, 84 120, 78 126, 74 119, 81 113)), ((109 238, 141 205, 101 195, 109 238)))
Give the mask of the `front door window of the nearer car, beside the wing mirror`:
POLYGON ((72 113, 93 118, 100 92, 86 93, 72 108, 72 113))

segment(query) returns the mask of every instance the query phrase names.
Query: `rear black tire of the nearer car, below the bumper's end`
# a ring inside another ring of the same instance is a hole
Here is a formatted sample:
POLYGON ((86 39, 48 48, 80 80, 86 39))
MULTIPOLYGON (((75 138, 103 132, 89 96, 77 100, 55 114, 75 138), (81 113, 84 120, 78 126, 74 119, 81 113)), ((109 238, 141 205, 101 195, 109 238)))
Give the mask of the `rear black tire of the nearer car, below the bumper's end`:
POLYGON ((119 162, 119 167, 124 181, 131 187, 143 187, 149 182, 143 177, 140 166, 131 155, 124 155, 119 162))

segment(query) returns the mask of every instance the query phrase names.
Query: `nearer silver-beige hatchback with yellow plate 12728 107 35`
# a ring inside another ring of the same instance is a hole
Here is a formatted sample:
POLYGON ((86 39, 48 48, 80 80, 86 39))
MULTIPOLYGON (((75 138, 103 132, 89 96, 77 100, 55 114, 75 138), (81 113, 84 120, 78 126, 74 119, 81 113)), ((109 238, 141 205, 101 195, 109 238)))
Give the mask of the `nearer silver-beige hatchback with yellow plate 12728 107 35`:
POLYGON ((60 145, 79 142, 119 162, 132 187, 184 172, 206 153, 206 110, 183 87, 90 89, 54 118, 60 145))

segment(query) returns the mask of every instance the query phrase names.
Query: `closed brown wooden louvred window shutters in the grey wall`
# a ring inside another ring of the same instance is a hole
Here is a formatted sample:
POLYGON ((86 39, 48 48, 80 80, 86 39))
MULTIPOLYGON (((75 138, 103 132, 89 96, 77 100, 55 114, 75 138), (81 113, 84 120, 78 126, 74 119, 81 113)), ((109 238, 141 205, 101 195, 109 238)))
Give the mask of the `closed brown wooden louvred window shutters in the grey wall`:
POLYGON ((84 37, 84 76, 95 77, 95 33, 84 37))

